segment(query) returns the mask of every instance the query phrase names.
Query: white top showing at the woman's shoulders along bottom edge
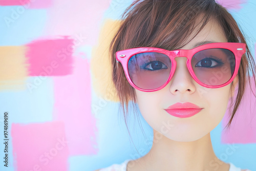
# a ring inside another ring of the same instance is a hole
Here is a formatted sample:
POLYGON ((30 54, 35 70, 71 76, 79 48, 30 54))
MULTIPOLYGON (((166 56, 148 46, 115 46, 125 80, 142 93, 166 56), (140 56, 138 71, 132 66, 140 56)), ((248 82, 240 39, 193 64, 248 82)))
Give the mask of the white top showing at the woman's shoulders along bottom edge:
MULTIPOLYGON (((123 163, 121 164, 113 164, 109 167, 105 167, 105 168, 102 168, 100 169, 99 171, 126 171, 126 166, 127 166, 127 163, 129 161, 131 161, 132 159, 127 159, 125 160, 123 163)), ((230 165, 229 167, 229 170, 228 171, 241 171, 241 168, 240 167, 236 167, 234 166, 232 163, 228 163, 230 165)), ((246 169, 246 171, 251 171, 249 169, 246 169)))

